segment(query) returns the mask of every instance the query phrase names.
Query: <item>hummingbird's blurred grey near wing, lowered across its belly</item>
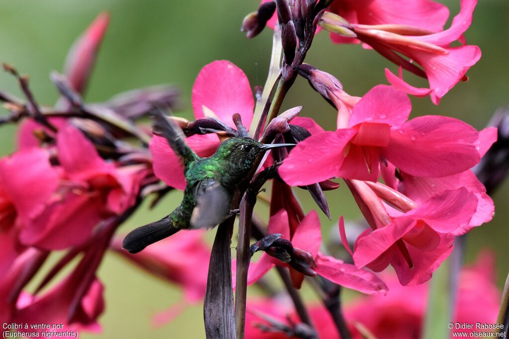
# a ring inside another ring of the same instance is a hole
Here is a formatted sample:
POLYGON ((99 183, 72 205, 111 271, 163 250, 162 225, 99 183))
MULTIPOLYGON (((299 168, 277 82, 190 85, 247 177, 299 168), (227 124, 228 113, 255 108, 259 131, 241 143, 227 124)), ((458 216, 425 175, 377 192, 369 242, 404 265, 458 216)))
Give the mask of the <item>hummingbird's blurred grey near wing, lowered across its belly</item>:
POLYGON ((192 228, 213 228, 230 215, 232 196, 214 179, 204 179, 196 186, 195 199, 192 228))

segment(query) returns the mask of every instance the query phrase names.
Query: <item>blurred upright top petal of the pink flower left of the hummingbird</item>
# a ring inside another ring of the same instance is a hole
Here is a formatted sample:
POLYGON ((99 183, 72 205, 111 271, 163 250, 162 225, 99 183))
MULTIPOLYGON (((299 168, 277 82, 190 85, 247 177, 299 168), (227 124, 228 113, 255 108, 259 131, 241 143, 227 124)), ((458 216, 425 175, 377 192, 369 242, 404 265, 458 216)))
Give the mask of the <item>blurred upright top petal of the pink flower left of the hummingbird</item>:
POLYGON ((59 160, 66 174, 80 179, 83 174, 102 171, 106 162, 99 156, 92 142, 76 127, 67 125, 56 136, 59 160))

